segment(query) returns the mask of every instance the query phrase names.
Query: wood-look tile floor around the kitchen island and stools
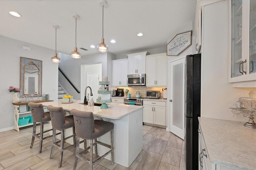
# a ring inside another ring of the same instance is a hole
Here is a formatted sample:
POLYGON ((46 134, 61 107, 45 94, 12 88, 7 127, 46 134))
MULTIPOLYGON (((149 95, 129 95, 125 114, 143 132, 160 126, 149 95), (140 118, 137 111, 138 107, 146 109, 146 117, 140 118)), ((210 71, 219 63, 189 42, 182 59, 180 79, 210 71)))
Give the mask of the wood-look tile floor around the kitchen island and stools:
MULTIPOLYGON (((40 129, 37 126, 37 131, 40 129)), ((65 150, 62 167, 58 168, 60 150, 55 147, 49 159, 51 140, 43 141, 42 152, 38 154, 39 140, 35 139, 30 149, 32 127, 0 132, 0 170, 72 170, 75 148, 65 150)), ((88 153, 85 154, 89 156, 88 153)), ((89 164, 78 159, 77 170, 89 169, 89 164)), ((111 165, 107 159, 94 166, 95 170, 185 170, 184 140, 165 128, 143 125, 143 150, 129 168, 120 164, 111 165)))

